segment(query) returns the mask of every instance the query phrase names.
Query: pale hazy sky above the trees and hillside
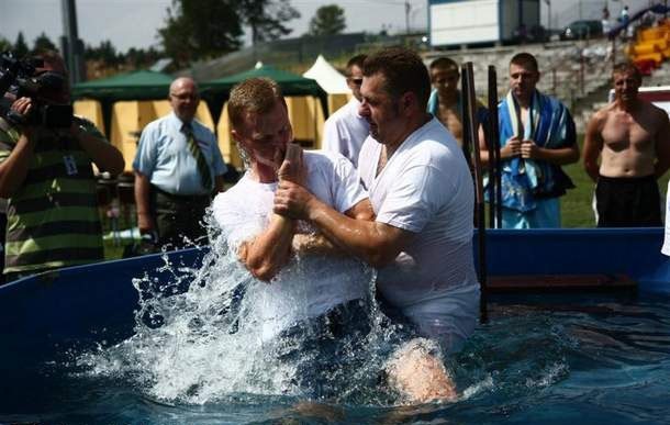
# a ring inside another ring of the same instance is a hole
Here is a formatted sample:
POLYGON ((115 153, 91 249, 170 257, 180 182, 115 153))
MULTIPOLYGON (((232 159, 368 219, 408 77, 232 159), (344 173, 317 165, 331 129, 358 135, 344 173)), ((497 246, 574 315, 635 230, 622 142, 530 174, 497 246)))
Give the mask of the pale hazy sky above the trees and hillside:
MULTIPOLYGON (((543 23, 547 20, 546 0, 540 0, 543 23)), ((427 0, 407 0, 410 27, 427 26, 427 0)), ((578 19, 581 11, 588 14, 600 10, 604 0, 552 0, 552 20, 565 25, 578 19)), ((0 0, 0 36, 14 42, 20 31, 29 44, 42 32, 56 44, 63 35, 60 0, 0 0)), ((76 0, 79 37, 87 45, 97 46, 110 40, 118 51, 131 47, 147 48, 158 46, 157 29, 161 27, 171 0, 76 0)), ((293 29, 290 36, 300 36, 308 31, 309 22, 316 9, 324 4, 337 3, 345 10, 346 32, 372 32, 382 29, 390 33, 405 30, 404 0, 291 0, 301 18, 290 21, 293 29)), ((617 12, 623 3, 632 9, 646 5, 648 0, 610 0, 610 10, 617 12)))

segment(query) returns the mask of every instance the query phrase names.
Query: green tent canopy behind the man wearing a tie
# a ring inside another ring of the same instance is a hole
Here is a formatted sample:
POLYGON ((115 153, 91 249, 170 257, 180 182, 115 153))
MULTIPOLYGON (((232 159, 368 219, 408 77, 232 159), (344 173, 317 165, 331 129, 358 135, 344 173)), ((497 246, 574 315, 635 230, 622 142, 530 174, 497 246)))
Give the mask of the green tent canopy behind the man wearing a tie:
POLYGON ((102 108, 104 127, 110 128, 112 105, 121 100, 167 99, 170 83, 175 78, 169 74, 138 70, 120 74, 110 78, 79 82, 72 88, 72 99, 94 99, 102 108))

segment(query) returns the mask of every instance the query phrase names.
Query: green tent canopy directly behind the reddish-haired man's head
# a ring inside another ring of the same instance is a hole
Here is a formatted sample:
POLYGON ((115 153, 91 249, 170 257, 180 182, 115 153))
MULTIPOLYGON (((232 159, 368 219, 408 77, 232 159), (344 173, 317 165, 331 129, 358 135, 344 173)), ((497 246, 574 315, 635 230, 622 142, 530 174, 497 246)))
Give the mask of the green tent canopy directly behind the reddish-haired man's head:
POLYGON ((236 83, 254 77, 267 77, 277 81, 284 96, 314 96, 319 98, 324 115, 327 116, 327 93, 319 86, 316 80, 304 78, 297 74, 277 69, 271 65, 263 65, 260 63, 247 71, 212 81, 205 81, 200 85, 202 98, 208 102, 212 115, 219 116, 221 114, 223 103, 228 99, 231 89, 233 89, 236 83))

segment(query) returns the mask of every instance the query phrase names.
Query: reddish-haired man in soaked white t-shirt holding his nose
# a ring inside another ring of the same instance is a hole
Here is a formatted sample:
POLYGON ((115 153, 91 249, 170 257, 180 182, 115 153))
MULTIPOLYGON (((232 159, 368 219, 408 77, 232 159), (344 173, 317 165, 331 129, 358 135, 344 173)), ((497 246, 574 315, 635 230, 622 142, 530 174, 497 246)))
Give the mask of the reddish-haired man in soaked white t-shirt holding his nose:
POLYGON ((314 253, 334 250, 325 239, 306 223, 272 213, 278 181, 305 184, 322 202, 356 220, 371 220, 372 211, 345 157, 303 154, 291 143, 286 101, 275 81, 253 78, 236 86, 228 114, 232 136, 249 164, 233 188, 216 195, 213 215, 231 250, 260 281, 247 295, 260 317, 264 339, 270 340, 301 321, 365 298, 371 280, 366 280, 364 265, 351 257, 323 261, 314 253), (290 163, 297 167, 288 167, 290 163), (299 267, 293 253, 301 257, 299 267))

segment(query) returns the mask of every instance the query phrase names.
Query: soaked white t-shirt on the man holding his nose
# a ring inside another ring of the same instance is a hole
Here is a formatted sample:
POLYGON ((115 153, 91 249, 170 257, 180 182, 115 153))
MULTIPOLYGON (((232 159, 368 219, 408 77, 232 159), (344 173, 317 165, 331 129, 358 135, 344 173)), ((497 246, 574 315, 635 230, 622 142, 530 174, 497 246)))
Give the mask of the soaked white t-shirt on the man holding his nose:
MULTIPOLYGON (((342 155, 305 152, 304 161, 308 189, 335 210, 344 213, 368 198, 356 170, 342 155)), ((267 227, 276 189, 276 182, 260 183, 247 172, 214 198, 214 219, 231 255, 267 227)), ((304 222, 298 227, 301 233, 313 232, 304 222)), ((245 304, 261 322, 264 339, 269 339, 299 321, 364 298, 370 280, 370 269, 354 258, 303 256, 291 259, 269 283, 254 282, 247 288, 245 304)))

